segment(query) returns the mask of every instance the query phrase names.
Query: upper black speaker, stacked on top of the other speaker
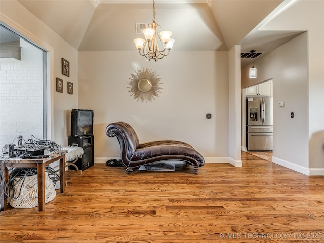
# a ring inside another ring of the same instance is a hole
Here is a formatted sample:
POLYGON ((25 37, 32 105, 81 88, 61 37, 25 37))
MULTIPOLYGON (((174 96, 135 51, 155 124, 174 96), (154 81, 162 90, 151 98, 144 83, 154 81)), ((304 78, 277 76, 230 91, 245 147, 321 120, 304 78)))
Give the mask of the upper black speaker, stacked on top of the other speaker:
POLYGON ((93 110, 73 109, 71 111, 71 135, 93 134, 93 110))

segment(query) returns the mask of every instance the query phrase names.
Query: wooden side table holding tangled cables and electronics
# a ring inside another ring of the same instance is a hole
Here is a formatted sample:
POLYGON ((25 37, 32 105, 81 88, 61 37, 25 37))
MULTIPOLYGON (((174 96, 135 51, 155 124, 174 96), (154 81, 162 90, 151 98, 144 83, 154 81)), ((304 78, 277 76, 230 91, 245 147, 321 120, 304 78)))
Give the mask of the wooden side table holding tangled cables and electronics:
MULTIPOLYGON (((4 176, 5 183, 9 180, 8 168, 10 167, 35 167, 37 168, 38 183, 38 210, 44 211, 45 208, 45 167, 57 160, 60 160, 60 190, 64 192, 65 181, 65 154, 67 151, 53 153, 48 158, 9 158, 8 160, 0 159, 0 163, 5 162, 4 176)), ((7 209, 8 198, 4 199, 3 210, 7 209)))

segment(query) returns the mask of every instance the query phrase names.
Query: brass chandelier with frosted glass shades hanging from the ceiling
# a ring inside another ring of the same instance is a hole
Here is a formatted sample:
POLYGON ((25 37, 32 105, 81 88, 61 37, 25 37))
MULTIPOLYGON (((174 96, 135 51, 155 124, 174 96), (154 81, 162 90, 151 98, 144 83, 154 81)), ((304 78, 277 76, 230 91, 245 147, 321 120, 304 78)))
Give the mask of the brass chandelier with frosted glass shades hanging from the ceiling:
POLYGON ((134 39, 136 48, 141 56, 144 56, 146 61, 154 59, 162 59, 170 53, 173 46, 174 39, 171 39, 171 31, 161 31, 157 33, 157 26, 155 23, 155 0, 153 0, 153 22, 148 25, 148 28, 143 30, 145 39, 134 39), (158 44, 158 41, 160 44, 158 44), (160 45, 160 46, 159 46, 160 45))

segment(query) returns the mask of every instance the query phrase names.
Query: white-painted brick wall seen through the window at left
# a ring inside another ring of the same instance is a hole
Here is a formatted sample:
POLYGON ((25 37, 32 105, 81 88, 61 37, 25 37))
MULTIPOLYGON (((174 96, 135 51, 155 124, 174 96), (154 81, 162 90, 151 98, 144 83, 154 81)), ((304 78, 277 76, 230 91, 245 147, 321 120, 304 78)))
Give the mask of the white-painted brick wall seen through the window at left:
POLYGON ((23 39, 20 44, 21 61, 0 59, 1 149, 19 135, 43 139, 43 54, 23 39))

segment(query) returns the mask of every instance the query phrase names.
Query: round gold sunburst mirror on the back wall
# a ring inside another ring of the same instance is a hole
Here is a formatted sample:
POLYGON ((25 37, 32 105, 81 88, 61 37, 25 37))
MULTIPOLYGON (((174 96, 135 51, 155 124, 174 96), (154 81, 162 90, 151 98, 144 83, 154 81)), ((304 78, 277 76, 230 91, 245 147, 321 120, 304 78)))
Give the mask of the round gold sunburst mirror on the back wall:
POLYGON ((155 100, 154 96, 158 96, 158 93, 161 93, 159 90, 162 89, 159 85, 160 78, 156 74, 155 71, 148 68, 141 68, 137 69, 135 71, 135 74, 131 74, 132 78, 128 84, 130 85, 129 92, 131 92, 131 95, 134 95, 134 100, 137 99, 137 101, 141 100, 144 102, 144 100, 147 102, 152 101, 152 99, 155 100))

